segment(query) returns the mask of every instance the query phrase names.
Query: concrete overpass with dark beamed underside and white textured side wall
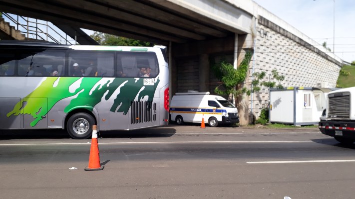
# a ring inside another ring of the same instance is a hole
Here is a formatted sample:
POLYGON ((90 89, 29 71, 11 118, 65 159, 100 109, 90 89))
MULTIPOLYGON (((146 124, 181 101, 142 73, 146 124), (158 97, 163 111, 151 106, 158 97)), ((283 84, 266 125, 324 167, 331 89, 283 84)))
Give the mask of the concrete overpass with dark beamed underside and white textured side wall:
MULTIPOLYGON (((172 95, 213 92, 210 60, 224 57, 237 67, 246 50, 253 52, 249 88, 253 71, 274 68, 286 76, 284 86, 335 87, 342 63, 252 0, 0 0, 0 11, 170 46, 172 95)), ((267 100, 267 89, 244 96, 242 123, 267 100)))

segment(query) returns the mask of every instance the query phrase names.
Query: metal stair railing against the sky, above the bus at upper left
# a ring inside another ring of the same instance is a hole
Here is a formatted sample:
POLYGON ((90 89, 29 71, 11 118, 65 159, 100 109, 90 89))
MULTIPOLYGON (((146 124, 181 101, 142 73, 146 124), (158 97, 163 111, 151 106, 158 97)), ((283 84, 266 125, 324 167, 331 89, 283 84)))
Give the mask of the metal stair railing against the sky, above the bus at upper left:
POLYGON ((2 13, 2 17, 10 25, 14 26, 25 35, 27 39, 51 41, 57 44, 75 44, 75 40, 61 31, 58 27, 51 22, 38 20, 34 18, 19 16, 16 14, 2 13))

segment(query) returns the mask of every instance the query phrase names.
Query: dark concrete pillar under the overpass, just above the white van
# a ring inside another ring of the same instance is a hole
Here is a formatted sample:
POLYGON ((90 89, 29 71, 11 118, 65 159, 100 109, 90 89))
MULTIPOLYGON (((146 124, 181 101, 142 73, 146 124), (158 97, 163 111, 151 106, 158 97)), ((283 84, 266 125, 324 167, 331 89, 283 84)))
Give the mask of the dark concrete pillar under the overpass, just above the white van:
POLYGON ((201 54, 199 56, 199 92, 210 91, 210 62, 208 54, 201 54))

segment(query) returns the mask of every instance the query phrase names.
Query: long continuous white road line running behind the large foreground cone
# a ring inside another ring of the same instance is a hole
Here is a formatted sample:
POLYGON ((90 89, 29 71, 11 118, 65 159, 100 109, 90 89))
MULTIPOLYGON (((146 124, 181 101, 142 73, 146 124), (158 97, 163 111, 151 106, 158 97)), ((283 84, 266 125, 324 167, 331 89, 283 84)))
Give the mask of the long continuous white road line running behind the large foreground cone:
MULTIPOLYGON (((189 143, 300 143, 300 142, 322 142, 322 141, 312 141, 312 140, 294 140, 294 141, 162 141, 162 142, 99 142, 101 144, 189 144, 189 143)), ((82 144, 90 144, 87 143, 32 143, 32 144, 0 144, 0 146, 31 146, 31 145, 82 145, 82 144)))

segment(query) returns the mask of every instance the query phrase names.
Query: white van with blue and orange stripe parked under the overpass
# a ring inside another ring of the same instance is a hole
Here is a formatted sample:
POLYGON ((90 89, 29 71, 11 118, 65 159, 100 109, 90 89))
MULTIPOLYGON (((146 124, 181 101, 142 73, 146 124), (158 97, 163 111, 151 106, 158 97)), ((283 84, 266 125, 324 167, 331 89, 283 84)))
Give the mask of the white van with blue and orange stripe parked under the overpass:
POLYGON ((202 122, 215 127, 219 123, 238 123, 237 108, 228 100, 210 92, 176 93, 170 103, 170 118, 177 124, 202 122))

